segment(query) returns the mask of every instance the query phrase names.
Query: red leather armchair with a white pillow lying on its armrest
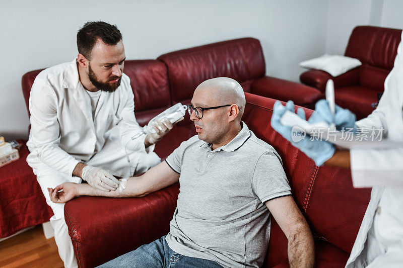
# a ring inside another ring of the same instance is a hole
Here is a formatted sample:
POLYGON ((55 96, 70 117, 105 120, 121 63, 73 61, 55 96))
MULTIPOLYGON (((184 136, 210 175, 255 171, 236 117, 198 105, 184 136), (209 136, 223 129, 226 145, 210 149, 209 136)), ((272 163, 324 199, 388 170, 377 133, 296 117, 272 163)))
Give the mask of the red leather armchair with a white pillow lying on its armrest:
POLYGON ((351 33, 345 56, 357 58, 362 65, 337 77, 321 70, 306 71, 300 80, 324 92, 326 81, 333 79, 335 102, 350 109, 357 119, 375 110, 371 104, 383 93, 384 81, 393 68, 401 30, 358 26, 351 33))

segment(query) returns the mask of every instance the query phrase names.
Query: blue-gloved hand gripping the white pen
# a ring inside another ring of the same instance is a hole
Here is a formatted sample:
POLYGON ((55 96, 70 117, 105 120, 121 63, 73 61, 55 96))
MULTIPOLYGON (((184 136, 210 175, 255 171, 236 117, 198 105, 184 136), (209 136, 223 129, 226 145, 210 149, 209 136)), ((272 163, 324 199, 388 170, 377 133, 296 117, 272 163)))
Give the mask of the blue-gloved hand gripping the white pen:
MULTIPOLYGON (((320 100, 315 104, 314 119, 315 122, 325 121, 327 124, 334 123, 337 130, 345 131, 353 129, 353 132, 357 131, 357 126, 355 125, 356 116, 350 110, 343 109, 339 105, 334 106, 335 113, 331 114, 329 105, 326 100, 320 100)), ((311 116, 312 117, 312 116, 311 116)), ((310 121, 311 122, 311 121, 310 121)))

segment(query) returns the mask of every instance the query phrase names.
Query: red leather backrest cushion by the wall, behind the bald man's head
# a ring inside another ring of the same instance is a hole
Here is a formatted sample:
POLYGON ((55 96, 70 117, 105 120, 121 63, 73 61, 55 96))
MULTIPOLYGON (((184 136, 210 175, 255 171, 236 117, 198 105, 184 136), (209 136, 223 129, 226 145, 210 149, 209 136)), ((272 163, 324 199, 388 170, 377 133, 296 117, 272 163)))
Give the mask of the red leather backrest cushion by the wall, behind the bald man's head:
POLYGON ((172 100, 188 102, 197 85, 214 77, 237 80, 248 92, 251 80, 265 74, 259 40, 240 38, 198 46, 158 57, 168 67, 172 100))

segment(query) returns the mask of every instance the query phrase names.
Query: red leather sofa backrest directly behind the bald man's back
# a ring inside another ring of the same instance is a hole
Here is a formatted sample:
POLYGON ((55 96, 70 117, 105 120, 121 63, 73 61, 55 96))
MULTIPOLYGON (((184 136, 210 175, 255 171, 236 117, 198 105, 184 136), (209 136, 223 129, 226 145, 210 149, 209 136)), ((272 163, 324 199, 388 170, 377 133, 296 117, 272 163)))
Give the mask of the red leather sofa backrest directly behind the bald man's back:
MULTIPOLYGON (((370 190, 353 188, 349 169, 315 166, 310 158, 276 132, 270 125, 276 100, 248 93, 245 97, 242 120, 282 157, 293 198, 305 215, 315 239, 350 252, 369 202, 370 190)), ((307 117, 313 112, 304 110, 307 117)), ((274 228, 266 261, 275 265, 285 258, 287 238, 280 228, 274 228)))

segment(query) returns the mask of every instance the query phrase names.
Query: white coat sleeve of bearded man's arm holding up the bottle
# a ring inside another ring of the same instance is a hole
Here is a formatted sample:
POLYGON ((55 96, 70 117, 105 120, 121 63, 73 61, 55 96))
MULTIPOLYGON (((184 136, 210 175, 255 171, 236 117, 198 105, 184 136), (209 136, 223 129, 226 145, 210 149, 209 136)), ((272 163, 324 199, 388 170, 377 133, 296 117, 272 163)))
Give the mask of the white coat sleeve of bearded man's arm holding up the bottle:
POLYGON ((122 83, 125 88, 125 98, 120 101, 124 102, 124 107, 121 112, 120 122, 117 124, 119 128, 120 142, 122 145, 130 151, 147 152, 150 153, 154 150, 155 144, 145 147, 144 140, 146 135, 140 136, 139 138, 132 140, 131 137, 141 132, 143 128, 139 125, 135 116, 135 96, 130 86, 130 79, 125 77, 122 78, 122 83))

